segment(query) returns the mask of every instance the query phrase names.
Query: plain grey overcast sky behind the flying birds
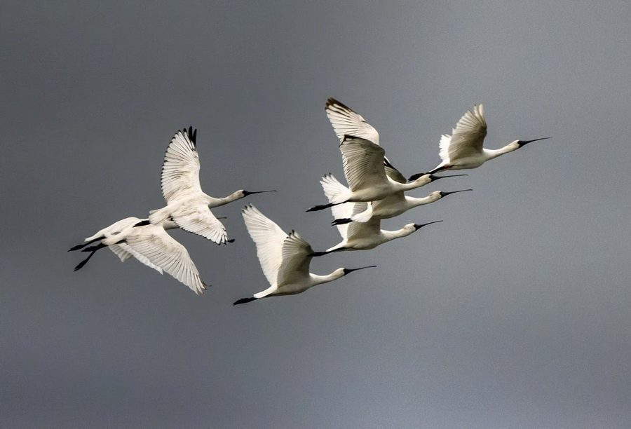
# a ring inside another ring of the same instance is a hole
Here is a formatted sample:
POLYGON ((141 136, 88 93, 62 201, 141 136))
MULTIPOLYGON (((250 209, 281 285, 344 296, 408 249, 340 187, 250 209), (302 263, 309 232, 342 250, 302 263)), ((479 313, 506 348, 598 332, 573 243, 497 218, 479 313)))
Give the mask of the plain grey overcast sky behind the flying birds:
POLYGON ((622 428, 631 421, 631 6, 536 1, 4 1, 0 425, 11 428, 622 428), (164 3, 164 2, 163 2, 164 3), (445 222, 294 297, 266 289, 240 209, 339 242, 324 104, 404 174, 484 103, 485 146, 551 135, 473 188, 384 222, 445 222), (66 250, 161 207, 172 135, 198 128, 232 245, 175 231, 206 282, 66 250))

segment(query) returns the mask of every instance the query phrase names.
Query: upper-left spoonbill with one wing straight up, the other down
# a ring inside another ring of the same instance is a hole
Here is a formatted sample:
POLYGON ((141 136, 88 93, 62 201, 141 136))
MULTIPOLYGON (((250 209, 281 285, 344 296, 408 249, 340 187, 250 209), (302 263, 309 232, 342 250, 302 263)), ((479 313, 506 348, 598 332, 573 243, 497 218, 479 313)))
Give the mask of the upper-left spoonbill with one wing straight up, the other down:
POLYGON ((184 231, 199 234, 221 245, 229 242, 226 228, 210 209, 231 203, 252 193, 240 189, 224 198, 203 193, 199 183, 199 156, 196 149, 197 130, 178 131, 171 139, 162 165, 162 194, 167 205, 149 212, 149 222, 159 225, 168 219, 184 231))

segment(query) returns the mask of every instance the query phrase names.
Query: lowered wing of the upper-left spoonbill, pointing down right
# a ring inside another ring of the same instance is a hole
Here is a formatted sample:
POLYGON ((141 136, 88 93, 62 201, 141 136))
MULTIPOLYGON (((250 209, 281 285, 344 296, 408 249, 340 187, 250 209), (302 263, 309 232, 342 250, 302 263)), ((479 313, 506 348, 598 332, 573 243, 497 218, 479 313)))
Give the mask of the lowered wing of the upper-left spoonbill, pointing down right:
POLYGON ((208 205, 182 205, 172 212, 171 217, 177 226, 184 231, 196 233, 218 245, 228 241, 226 227, 215 217, 215 214, 212 214, 208 205))

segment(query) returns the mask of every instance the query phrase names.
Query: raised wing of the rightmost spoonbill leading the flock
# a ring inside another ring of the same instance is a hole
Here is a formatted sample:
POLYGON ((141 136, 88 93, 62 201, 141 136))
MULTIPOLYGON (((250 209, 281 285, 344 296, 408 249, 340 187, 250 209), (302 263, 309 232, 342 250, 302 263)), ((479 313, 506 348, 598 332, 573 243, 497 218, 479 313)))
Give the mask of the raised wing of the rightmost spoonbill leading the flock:
POLYGON ((440 139, 440 158, 448 160, 475 156, 482 152, 482 143, 487 136, 487 121, 484 120, 484 107, 482 104, 473 106, 473 111, 468 110, 463 114, 452 135, 443 135, 440 139))

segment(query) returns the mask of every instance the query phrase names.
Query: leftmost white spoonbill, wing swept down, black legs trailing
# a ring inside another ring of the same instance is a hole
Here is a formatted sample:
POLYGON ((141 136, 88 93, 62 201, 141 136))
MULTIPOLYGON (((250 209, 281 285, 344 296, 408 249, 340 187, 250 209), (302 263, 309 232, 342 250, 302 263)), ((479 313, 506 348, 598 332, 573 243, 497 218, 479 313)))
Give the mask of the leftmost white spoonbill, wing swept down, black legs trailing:
POLYGON ((109 247, 121 261, 133 256, 142 264, 154 268, 158 273, 162 274, 166 271, 173 278, 190 287, 196 294, 201 294, 207 285, 201 279, 189 252, 165 231, 165 229, 174 228, 177 228, 177 225, 169 219, 161 225, 154 225, 149 222, 149 219, 137 217, 127 217, 115 222, 86 238, 86 243, 70 249, 72 251, 85 247, 82 252, 90 252, 90 255, 81 261, 74 271, 83 268, 97 250, 109 247), (97 241, 100 242, 98 245, 86 247, 97 241))

